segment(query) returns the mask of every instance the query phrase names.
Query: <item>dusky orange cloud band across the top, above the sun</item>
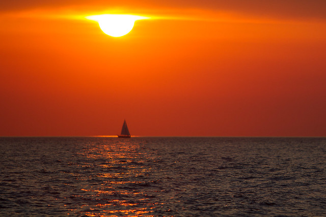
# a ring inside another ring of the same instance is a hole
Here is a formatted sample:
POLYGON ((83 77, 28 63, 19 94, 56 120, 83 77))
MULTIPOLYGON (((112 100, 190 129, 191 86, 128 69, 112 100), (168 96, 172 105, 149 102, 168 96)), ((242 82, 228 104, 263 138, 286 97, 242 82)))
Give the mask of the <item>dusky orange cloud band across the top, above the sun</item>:
MULTIPOLYGON (((179 0, 153 3, 141 1, 39 1, 17 0, 0 3, 2 14, 44 11, 53 14, 84 16, 99 13, 132 13, 165 19, 215 19, 219 17, 247 17, 250 20, 326 20, 326 1, 315 0, 179 0)), ((221 18, 220 18, 221 19, 221 18)))

